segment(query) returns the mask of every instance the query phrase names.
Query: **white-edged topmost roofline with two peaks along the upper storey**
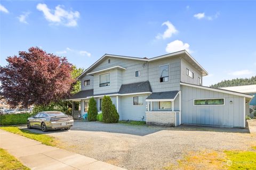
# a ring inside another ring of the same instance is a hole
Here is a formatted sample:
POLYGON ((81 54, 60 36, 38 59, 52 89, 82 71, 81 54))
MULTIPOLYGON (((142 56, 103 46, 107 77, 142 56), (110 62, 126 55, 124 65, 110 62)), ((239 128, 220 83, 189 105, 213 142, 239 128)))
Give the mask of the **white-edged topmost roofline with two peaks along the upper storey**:
POLYGON ((184 54, 183 57, 185 57, 185 60, 189 60, 189 61, 193 62, 193 64, 195 64, 197 67, 199 67, 199 69, 201 69, 201 71, 202 71, 203 76, 208 75, 207 71, 186 50, 181 50, 179 52, 169 53, 169 54, 165 54, 165 55, 161 55, 161 56, 157 56, 157 57, 153 57, 153 58, 149 58, 149 59, 148 58, 140 58, 140 57, 123 56, 123 55, 105 54, 102 57, 100 57, 99 60, 97 60, 95 63, 93 63, 90 67, 88 67, 88 69, 86 69, 82 74, 80 74, 77 77, 77 79, 82 77, 88 71, 92 70, 93 67, 96 66, 98 63, 100 63, 105 57, 116 57, 116 58, 125 58, 125 59, 129 59, 129 60, 139 60, 139 61, 151 62, 151 61, 155 61, 155 60, 160 60, 162 58, 173 57, 173 56, 177 56, 177 55, 181 55, 181 54, 184 54))

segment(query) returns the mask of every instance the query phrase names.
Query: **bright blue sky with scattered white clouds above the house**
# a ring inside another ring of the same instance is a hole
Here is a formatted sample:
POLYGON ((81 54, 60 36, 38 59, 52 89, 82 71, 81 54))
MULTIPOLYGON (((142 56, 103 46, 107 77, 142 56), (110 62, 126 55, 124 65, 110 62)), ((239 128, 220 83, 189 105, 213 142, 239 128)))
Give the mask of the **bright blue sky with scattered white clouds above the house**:
POLYGON ((187 49, 203 85, 256 74, 256 2, 1 1, 0 64, 38 46, 88 67, 105 53, 155 57, 187 49))

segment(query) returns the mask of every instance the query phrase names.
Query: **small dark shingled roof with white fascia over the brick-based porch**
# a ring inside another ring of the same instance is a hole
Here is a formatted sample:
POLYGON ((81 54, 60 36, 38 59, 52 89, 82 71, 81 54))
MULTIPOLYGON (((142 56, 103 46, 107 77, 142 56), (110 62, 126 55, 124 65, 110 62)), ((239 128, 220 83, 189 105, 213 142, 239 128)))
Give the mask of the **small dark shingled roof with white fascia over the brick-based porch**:
POLYGON ((146 101, 173 101, 178 93, 178 90, 153 92, 146 98, 146 101))

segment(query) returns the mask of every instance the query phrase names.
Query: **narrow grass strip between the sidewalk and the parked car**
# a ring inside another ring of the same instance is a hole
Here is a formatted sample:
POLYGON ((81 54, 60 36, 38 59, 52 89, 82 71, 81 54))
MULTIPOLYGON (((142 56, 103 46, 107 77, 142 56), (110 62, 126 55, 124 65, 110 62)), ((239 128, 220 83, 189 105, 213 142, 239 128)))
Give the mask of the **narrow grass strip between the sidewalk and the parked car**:
POLYGON ((44 145, 57 146, 57 143, 58 143, 58 140, 56 140, 54 137, 51 137, 49 135, 30 132, 29 130, 19 129, 18 127, 15 127, 15 126, 0 127, 0 129, 22 135, 23 137, 27 137, 29 139, 37 140, 39 142, 42 142, 42 144, 44 145))

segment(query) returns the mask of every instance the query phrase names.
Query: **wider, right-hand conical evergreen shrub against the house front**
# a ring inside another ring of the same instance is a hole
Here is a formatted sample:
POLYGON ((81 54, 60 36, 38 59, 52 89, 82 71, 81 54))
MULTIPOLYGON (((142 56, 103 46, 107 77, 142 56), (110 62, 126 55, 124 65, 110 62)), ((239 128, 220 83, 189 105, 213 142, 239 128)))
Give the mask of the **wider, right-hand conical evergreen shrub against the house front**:
POLYGON ((104 96, 102 99, 102 115, 104 123, 117 123, 119 120, 116 107, 109 96, 104 96))

